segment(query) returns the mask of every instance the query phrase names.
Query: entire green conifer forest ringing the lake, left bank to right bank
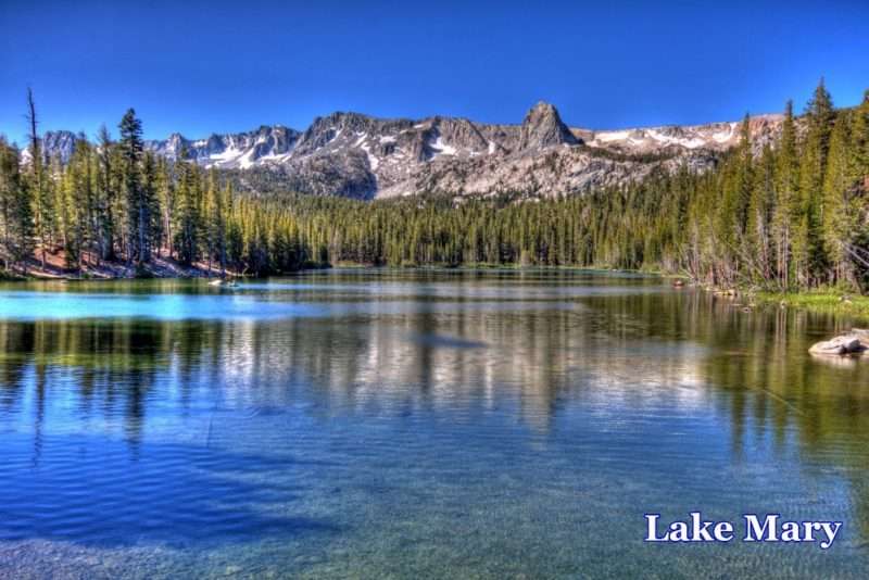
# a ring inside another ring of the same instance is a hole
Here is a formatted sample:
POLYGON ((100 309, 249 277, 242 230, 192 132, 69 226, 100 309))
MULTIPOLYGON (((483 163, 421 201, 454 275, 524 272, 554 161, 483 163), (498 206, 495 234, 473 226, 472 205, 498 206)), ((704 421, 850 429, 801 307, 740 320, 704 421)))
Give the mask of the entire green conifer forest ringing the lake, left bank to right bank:
MULTIPOLYGON (((30 100, 32 103, 32 100, 30 100)), ((773 142, 740 146, 714 171, 662 171, 620 187, 527 196, 356 201, 234 193, 231 176, 144 151, 133 110, 112 141, 46 160, 30 108, 29 162, 0 143, 7 268, 63 252, 80 270, 158 257, 251 275, 354 262, 657 268, 730 286, 869 287, 869 92, 836 110, 821 83, 785 109, 773 142)))

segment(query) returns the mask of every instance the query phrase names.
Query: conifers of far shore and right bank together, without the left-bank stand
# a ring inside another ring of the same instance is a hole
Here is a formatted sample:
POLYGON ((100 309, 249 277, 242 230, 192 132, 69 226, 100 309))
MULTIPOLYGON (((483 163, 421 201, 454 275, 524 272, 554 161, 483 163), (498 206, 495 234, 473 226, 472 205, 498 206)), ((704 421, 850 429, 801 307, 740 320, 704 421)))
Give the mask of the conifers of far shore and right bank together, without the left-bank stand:
POLYGON ((358 202, 272 197, 307 256, 386 265, 656 268, 779 290, 869 286, 869 92, 835 110, 821 83, 781 134, 715 171, 663 171, 556 200, 438 197, 358 202))

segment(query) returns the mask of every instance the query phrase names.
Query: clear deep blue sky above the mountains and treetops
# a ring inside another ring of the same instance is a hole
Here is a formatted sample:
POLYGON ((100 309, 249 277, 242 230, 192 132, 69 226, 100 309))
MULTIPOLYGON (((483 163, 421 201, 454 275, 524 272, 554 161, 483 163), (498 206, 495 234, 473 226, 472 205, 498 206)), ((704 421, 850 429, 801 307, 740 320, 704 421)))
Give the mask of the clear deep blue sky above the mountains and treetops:
POLYGON ((439 2, 0 0, 0 133, 188 137, 316 115, 518 123, 540 99, 571 126, 690 124, 836 104, 869 88, 869 1, 439 2), (137 4, 137 5, 134 5, 137 4))

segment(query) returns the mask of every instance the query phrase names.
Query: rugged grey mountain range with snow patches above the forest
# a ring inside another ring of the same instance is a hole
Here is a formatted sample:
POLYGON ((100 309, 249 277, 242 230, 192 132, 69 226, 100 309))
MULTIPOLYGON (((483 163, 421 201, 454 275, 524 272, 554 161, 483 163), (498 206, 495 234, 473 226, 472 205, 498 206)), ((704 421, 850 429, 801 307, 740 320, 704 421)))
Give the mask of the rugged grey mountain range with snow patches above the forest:
MULTIPOLYGON (((519 125, 466 118, 377 118, 360 113, 317 117, 304 131, 280 125, 188 139, 173 134, 146 148, 169 160, 185 154, 225 171, 243 188, 360 199, 441 192, 454 196, 562 196, 635 180, 656 167, 711 167, 739 143, 739 122, 621 130, 568 127, 550 103, 519 125)), ((779 130, 780 115, 752 117, 756 147, 779 130)), ((43 149, 61 161, 76 137, 49 131, 43 149)))

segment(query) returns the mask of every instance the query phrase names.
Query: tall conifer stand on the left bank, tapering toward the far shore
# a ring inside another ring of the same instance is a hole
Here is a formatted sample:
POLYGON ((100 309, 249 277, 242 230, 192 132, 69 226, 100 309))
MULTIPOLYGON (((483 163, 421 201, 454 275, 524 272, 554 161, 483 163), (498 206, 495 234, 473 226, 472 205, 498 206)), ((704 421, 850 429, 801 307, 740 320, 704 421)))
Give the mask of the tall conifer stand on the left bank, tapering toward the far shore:
POLYGON ((63 166, 43 156, 30 114, 26 160, 0 140, 7 270, 27 274, 28 262, 45 266, 47 255, 62 255, 71 272, 123 262, 144 273, 154 257, 254 275, 305 265, 288 216, 238 199, 214 172, 146 151, 134 110, 117 141, 105 128, 96 144, 79 138, 63 166))

